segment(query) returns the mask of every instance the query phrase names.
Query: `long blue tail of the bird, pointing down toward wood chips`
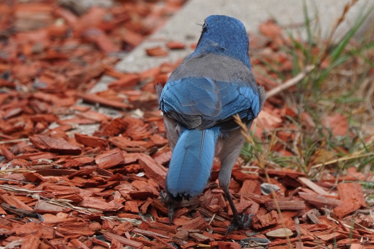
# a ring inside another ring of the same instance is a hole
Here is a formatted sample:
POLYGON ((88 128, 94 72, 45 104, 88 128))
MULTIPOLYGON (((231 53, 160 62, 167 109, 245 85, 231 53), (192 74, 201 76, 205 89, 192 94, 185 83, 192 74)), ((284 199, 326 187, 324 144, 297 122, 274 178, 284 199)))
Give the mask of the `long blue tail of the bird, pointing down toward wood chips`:
POLYGON ((199 196, 213 165, 219 127, 207 130, 182 129, 171 156, 166 193, 172 197, 199 196))

